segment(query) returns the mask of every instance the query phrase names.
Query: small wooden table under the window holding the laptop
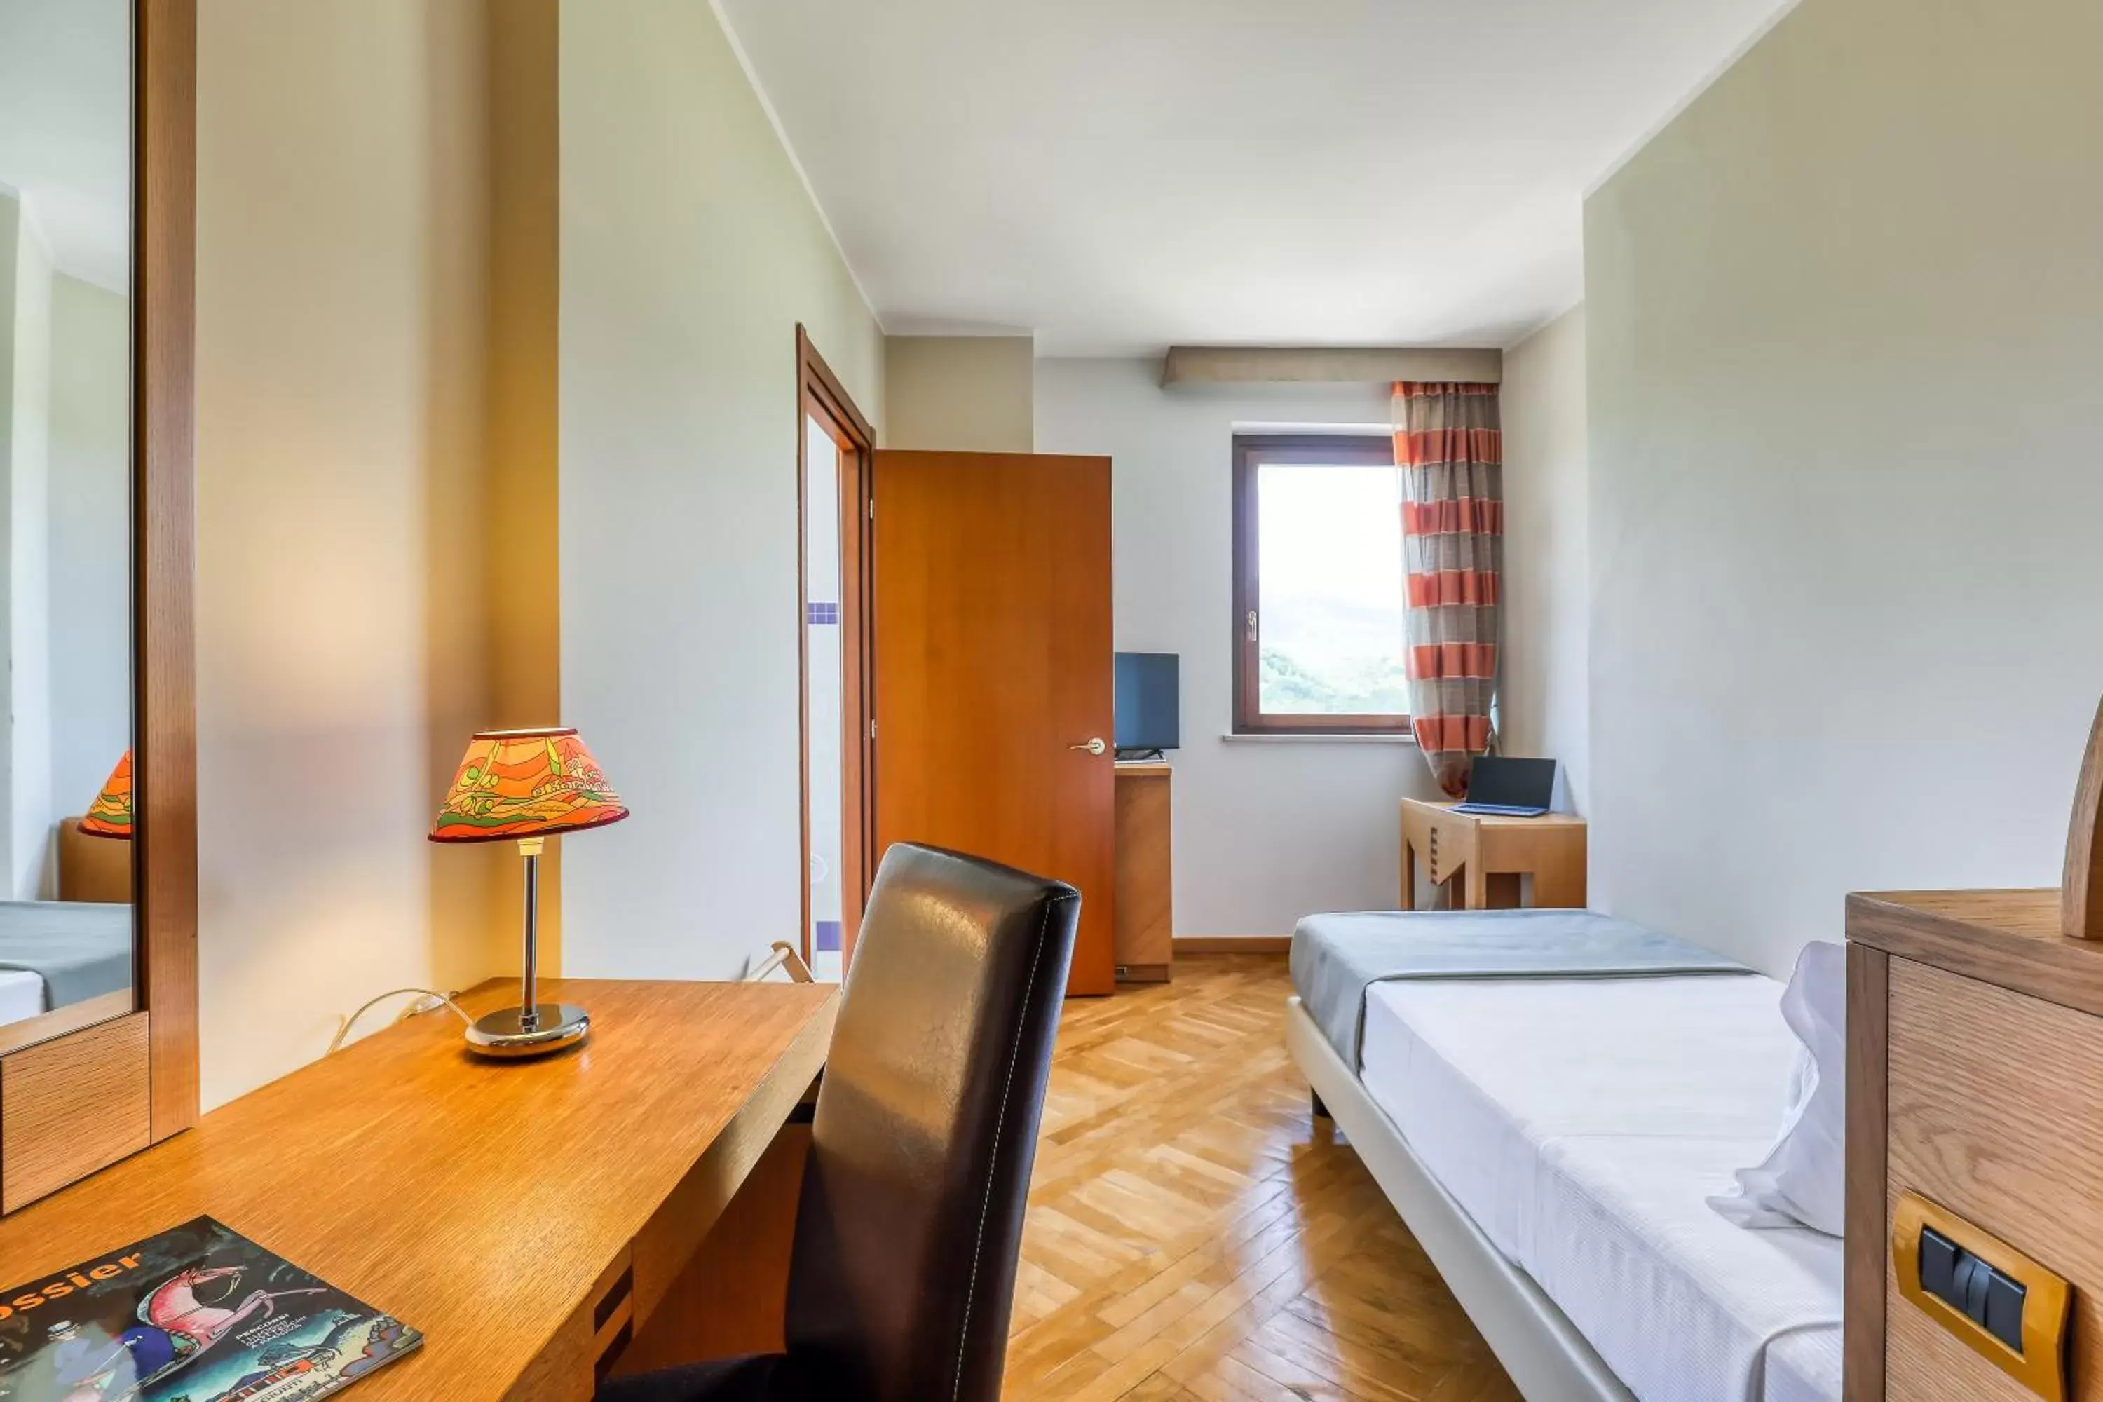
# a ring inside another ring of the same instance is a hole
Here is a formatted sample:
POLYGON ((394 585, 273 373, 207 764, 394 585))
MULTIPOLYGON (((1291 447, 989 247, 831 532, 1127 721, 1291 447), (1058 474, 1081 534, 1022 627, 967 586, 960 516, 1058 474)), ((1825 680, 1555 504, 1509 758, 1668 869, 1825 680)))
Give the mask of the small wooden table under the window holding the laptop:
POLYGON ((1586 904, 1586 824, 1577 813, 1487 818, 1451 803, 1403 799, 1403 910, 1417 908, 1417 855, 1432 885, 1464 877, 1459 910, 1518 908, 1518 879, 1533 877, 1533 904, 1586 904))

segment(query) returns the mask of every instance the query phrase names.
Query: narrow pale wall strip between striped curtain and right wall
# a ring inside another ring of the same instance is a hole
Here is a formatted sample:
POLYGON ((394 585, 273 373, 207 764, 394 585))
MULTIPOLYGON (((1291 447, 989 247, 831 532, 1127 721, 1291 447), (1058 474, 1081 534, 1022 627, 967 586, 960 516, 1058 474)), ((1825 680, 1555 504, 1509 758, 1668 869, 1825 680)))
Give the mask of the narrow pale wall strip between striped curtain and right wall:
POLYGON ((1512 755, 1558 759, 1556 807, 1590 792, 1592 580, 1586 528, 1584 307, 1504 353, 1504 645, 1512 755))

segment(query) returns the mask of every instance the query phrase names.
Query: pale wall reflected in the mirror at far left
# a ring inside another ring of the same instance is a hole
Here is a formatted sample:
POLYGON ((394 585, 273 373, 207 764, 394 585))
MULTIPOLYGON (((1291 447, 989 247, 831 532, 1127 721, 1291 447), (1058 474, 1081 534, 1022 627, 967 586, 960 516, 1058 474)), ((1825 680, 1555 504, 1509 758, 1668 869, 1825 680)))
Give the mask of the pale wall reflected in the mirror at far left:
POLYGON ((130 746, 130 298, 50 286, 50 799, 84 813, 130 746))

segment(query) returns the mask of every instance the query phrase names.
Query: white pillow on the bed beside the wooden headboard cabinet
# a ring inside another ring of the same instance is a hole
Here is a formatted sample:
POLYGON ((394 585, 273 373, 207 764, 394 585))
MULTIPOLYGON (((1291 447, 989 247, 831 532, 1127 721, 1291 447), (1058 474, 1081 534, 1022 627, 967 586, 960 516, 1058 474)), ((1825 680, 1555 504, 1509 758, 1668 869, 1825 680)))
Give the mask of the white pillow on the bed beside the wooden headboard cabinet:
POLYGON ((1802 1043, 1781 1137, 1764 1160, 1737 1171, 1737 1192, 1708 1202, 1741 1228, 1802 1223, 1840 1236, 1846 1192, 1846 950, 1838 944, 1804 946, 1781 994, 1781 1017, 1802 1043))

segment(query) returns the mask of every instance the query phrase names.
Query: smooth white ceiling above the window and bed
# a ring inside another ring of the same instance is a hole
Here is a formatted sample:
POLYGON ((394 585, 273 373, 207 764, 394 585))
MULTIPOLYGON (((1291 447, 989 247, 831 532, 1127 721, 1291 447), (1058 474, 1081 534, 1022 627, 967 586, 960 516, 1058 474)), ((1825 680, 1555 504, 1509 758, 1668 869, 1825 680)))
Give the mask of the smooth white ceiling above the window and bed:
POLYGON ((1510 345, 1794 0, 717 0, 885 330, 1510 345))

